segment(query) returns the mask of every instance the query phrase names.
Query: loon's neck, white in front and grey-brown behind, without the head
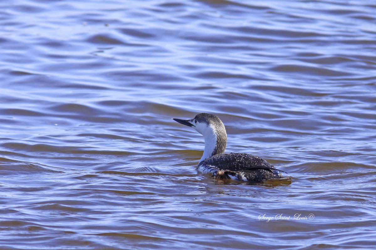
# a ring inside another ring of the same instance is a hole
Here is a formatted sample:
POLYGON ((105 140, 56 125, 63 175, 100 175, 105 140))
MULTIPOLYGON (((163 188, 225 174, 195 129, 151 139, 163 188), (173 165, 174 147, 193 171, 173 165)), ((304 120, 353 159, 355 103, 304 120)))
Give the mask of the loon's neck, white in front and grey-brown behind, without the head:
POLYGON ((223 129, 219 130, 219 133, 217 131, 218 128, 211 127, 211 132, 206 133, 206 135, 204 135, 205 149, 200 159, 200 162, 202 162, 208 157, 224 153, 227 144, 226 130, 223 127, 223 129))

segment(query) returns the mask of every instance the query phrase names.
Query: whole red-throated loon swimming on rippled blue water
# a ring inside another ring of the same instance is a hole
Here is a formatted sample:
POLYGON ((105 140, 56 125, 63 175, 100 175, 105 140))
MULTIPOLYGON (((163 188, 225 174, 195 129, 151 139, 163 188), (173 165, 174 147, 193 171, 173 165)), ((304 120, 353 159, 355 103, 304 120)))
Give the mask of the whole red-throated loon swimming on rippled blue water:
POLYGON ((197 165, 199 172, 211 173, 221 179, 253 182, 283 178, 279 173, 281 170, 264 159, 245 153, 224 153, 227 144, 226 129, 215 115, 201 113, 191 120, 173 120, 193 127, 204 136, 205 149, 197 165))

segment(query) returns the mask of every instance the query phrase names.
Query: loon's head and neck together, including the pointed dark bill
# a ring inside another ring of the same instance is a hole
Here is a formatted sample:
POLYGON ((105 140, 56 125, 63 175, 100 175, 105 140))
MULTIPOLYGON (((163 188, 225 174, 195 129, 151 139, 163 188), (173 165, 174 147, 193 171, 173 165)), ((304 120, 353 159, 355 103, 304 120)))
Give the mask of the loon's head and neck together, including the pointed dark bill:
POLYGON ((227 134, 222 121, 212 114, 201 113, 193 119, 182 120, 173 118, 174 121, 193 127, 205 138, 205 150, 200 160, 205 160, 215 154, 222 154, 226 149, 227 134))

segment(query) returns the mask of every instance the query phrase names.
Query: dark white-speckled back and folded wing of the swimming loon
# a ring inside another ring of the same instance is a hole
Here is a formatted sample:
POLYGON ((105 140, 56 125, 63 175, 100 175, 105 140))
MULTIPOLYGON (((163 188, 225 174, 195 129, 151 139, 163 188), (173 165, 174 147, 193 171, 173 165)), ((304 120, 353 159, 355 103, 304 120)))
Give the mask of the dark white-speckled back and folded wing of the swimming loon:
POLYGON ((277 170, 286 173, 285 171, 274 168, 273 165, 260 157, 245 153, 217 154, 206 158, 200 162, 200 165, 212 165, 219 169, 230 171, 265 169, 270 172, 272 172, 272 170, 277 170))

